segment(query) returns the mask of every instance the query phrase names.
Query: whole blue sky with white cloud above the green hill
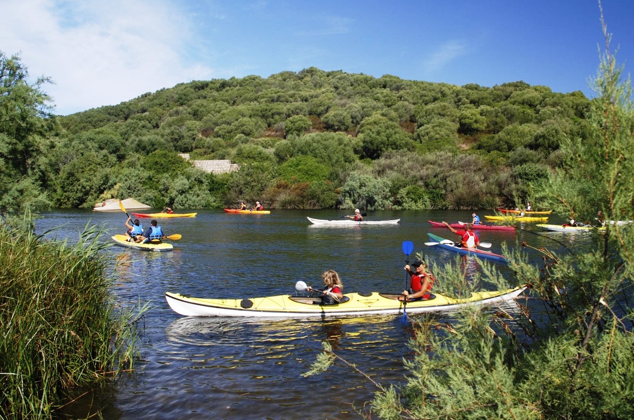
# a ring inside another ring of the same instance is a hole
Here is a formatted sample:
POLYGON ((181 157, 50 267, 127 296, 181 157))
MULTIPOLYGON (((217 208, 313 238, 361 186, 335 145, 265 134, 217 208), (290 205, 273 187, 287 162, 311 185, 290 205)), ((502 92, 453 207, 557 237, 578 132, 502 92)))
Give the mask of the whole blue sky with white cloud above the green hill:
MULTIPOLYGON (((634 1, 602 6, 630 74, 634 1)), ((53 79, 44 90, 60 115, 307 67, 593 96, 605 46, 593 0, 0 0, 0 10, 0 51, 53 79)))

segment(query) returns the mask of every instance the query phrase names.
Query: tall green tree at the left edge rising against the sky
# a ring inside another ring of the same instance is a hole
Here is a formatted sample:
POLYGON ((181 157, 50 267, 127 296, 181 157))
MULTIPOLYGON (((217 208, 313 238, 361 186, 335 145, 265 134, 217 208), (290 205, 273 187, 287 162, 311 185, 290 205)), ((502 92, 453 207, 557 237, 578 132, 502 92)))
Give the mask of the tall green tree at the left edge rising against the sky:
POLYGON ((41 90, 50 79, 38 77, 29 84, 28 76, 18 55, 8 58, 0 51, 1 214, 22 213, 31 208, 32 195, 7 194, 22 182, 29 184, 30 191, 39 188, 34 171, 41 156, 41 140, 54 123, 50 98, 41 90), (13 202, 14 199, 18 201, 13 202))

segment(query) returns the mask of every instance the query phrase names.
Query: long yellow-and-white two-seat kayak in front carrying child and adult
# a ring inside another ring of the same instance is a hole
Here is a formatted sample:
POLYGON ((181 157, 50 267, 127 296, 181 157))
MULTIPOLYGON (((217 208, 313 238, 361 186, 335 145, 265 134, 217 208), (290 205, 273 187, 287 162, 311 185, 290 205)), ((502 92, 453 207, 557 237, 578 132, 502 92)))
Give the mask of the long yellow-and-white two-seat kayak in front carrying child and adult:
MULTIPOLYGON (((432 294, 431 299, 408 301, 406 311, 451 311, 467 305, 492 305, 517 298, 527 286, 493 292, 474 292, 467 299, 454 299, 443 294, 432 294)), ((179 293, 166 292, 165 299, 174 312, 187 317, 361 317, 403 312, 399 294, 372 292, 347 293, 335 305, 320 305, 320 298, 281 294, 267 298, 207 299, 191 298, 179 293)))

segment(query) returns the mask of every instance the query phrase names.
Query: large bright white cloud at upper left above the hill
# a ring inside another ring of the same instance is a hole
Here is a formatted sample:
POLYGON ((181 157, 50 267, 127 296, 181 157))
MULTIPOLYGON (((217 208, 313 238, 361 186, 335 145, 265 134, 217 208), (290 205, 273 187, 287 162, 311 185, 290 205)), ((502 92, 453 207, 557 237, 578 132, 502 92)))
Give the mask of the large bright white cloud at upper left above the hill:
MULTIPOLYGON (((8 2, 7 2, 8 3, 8 2)), ((193 79, 212 69, 188 65, 191 27, 177 5, 156 0, 26 0, 3 4, 0 50, 21 51, 57 114, 115 105, 148 91, 193 79)))

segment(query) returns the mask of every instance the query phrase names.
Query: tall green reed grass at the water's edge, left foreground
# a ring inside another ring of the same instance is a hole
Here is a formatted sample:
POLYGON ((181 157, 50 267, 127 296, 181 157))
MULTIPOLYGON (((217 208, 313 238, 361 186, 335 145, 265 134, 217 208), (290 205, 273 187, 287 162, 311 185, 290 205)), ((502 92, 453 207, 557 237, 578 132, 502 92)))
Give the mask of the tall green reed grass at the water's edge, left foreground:
POLYGON ((0 228, 0 418, 50 418, 60 401, 133 367, 134 315, 113 300, 98 243, 0 228))

